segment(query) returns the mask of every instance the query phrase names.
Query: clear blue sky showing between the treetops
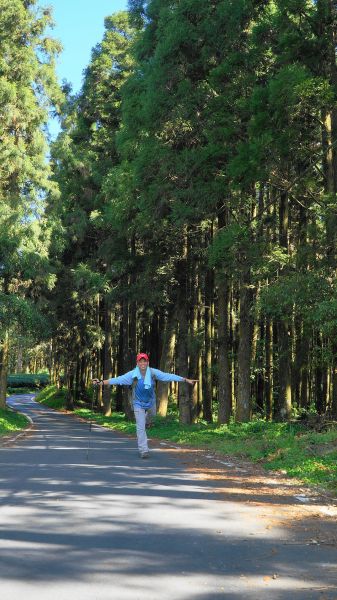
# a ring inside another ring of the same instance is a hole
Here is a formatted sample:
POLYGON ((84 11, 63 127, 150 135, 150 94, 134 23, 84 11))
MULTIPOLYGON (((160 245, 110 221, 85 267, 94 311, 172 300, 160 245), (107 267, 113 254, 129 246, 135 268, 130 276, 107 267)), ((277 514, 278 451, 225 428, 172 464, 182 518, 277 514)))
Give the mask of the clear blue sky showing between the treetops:
MULTIPOLYGON (((73 92, 78 92, 91 49, 102 40, 104 18, 126 10, 127 0, 39 0, 39 5, 53 8, 55 27, 51 35, 63 46, 57 64, 59 80, 66 79, 72 84, 73 92)), ((53 137, 57 131, 57 124, 50 123, 53 137)))

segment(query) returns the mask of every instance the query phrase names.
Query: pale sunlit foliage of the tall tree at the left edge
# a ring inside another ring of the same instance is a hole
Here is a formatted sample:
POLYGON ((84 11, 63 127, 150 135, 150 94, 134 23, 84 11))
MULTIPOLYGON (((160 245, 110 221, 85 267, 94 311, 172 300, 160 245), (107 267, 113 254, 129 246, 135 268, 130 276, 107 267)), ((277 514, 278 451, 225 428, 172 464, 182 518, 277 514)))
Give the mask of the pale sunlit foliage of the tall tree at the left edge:
POLYGON ((0 0, 0 336, 50 335, 41 295, 54 283, 44 198, 53 188, 46 125, 62 93, 55 74, 60 47, 45 36, 48 9, 0 0), (37 298, 39 297, 39 302, 37 298))

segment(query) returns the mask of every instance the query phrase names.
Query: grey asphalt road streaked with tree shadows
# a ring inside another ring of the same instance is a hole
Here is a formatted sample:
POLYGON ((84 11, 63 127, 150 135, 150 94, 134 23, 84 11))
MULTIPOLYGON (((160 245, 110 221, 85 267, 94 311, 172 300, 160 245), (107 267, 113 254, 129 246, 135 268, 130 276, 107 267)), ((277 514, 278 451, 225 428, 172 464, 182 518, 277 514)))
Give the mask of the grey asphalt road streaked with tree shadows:
POLYGON ((88 451, 88 423, 30 395, 9 404, 34 428, 0 452, 2 600, 337 598, 335 547, 225 500, 183 453, 141 460, 96 425, 88 451))

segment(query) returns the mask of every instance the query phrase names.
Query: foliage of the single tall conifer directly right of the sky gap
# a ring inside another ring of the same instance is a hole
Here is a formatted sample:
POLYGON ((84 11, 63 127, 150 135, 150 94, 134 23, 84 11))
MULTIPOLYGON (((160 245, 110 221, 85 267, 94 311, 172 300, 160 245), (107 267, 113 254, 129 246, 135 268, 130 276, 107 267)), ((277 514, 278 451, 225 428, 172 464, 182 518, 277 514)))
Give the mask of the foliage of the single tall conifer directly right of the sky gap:
POLYGON ((123 183, 127 176, 119 169, 116 134, 121 88, 133 65, 134 33, 125 12, 105 19, 104 37, 92 51, 82 90, 76 97, 68 94, 63 131, 52 145, 59 194, 50 195, 48 206, 57 272, 49 306, 54 340, 72 365, 102 347, 99 296, 116 290, 120 297, 117 283, 129 268, 128 182, 123 183))

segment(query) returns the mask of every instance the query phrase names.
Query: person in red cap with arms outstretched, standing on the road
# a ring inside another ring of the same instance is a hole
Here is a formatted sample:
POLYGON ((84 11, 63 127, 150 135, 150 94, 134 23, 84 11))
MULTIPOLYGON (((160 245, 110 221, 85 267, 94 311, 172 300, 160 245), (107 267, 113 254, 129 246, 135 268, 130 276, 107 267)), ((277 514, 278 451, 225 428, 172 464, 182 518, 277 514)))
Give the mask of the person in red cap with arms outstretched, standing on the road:
POLYGON ((184 381, 190 385, 196 383, 195 379, 187 379, 174 373, 164 373, 159 369, 149 366, 149 357, 144 352, 137 354, 137 365, 132 371, 112 377, 111 379, 93 379, 99 385, 128 385, 132 387, 132 405, 136 418, 138 450, 141 458, 148 458, 149 447, 146 435, 146 425, 156 414, 156 381, 184 381))

